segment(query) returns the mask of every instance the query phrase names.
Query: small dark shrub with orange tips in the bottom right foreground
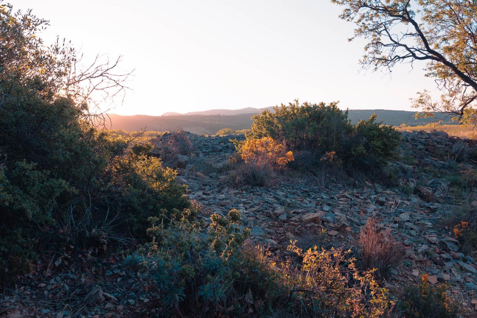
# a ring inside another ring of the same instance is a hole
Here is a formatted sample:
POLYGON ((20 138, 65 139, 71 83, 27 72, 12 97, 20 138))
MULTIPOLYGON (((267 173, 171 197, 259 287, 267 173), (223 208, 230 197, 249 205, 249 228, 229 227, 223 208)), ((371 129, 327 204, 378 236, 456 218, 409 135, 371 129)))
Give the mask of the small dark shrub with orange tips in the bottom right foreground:
POLYGON ((404 288, 400 307, 409 318, 446 318, 462 313, 459 305, 447 295, 446 285, 433 287, 427 281, 427 274, 421 276, 419 285, 404 288))

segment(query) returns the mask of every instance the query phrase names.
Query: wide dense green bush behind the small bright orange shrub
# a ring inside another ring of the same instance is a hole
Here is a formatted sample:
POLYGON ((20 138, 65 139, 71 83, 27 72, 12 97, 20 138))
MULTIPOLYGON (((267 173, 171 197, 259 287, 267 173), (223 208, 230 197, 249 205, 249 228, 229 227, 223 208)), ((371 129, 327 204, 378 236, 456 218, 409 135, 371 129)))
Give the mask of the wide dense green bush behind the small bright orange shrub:
POLYGON ((375 115, 353 125, 348 112, 342 112, 337 105, 307 102, 300 105, 298 101, 281 104, 274 113, 265 110, 253 116, 246 137, 271 137, 284 142, 293 150, 296 166, 303 164, 302 158, 314 164, 330 164, 330 154, 333 154, 332 164, 343 164, 347 169, 366 171, 383 166, 399 144, 399 133, 377 123, 375 115))

